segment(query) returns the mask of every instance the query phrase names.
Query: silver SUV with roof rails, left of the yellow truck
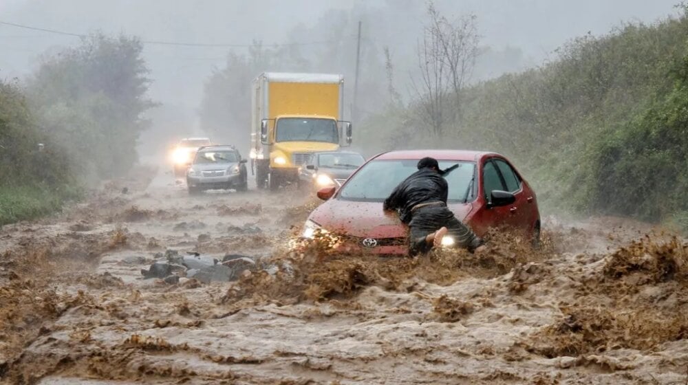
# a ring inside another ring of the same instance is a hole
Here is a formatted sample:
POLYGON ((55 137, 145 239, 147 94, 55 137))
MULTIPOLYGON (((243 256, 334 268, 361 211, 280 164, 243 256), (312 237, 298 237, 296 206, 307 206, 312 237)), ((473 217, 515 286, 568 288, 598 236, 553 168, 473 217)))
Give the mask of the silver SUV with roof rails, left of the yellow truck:
POLYGON ((248 190, 246 159, 233 146, 205 146, 196 151, 186 171, 189 194, 203 190, 248 190))

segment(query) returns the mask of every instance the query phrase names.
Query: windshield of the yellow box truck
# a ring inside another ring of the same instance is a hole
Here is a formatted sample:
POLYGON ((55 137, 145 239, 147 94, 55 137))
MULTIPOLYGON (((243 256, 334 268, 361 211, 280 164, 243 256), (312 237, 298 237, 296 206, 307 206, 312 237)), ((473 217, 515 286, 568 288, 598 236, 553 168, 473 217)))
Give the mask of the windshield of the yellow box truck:
POLYGON ((336 122, 319 118, 280 118, 277 120, 275 142, 338 143, 336 122))

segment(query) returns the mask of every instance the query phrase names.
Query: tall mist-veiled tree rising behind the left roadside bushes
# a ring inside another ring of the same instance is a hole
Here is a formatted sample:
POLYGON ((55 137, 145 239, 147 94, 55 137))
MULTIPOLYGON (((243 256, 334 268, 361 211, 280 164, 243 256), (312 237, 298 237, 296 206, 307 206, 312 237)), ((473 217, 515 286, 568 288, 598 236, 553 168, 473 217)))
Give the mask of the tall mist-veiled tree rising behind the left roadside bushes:
POLYGON ((69 149, 84 175, 120 175, 137 160, 136 141, 153 107, 136 38, 89 36, 46 58, 28 91, 41 129, 69 149))

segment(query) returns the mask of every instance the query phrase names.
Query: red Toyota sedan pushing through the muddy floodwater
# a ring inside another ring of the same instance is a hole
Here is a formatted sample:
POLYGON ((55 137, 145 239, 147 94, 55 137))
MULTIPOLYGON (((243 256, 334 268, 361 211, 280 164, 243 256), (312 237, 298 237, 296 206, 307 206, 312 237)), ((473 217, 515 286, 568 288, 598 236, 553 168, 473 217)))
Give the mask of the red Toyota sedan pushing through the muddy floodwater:
MULTIPOLYGON (((305 223, 303 237, 325 231, 344 239, 347 249, 376 254, 407 254, 407 226, 383 212, 383 201, 422 157, 438 159, 440 168, 459 167, 446 176, 447 204, 479 236, 506 225, 537 243, 540 214, 535 192, 506 157, 477 151, 391 151, 369 159, 339 188, 323 188, 325 200, 305 223)), ((451 240, 449 241, 451 243, 451 240)))

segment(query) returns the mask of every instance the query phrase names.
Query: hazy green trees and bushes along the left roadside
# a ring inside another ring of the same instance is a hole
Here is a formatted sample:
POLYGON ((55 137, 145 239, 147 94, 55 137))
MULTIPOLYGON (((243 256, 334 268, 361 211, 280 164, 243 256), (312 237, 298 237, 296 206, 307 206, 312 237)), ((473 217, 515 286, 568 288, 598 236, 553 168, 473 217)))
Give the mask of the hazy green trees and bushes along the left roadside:
POLYGON ((25 83, 0 82, 0 225, 59 210, 136 162, 153 106, 141 50, 97 34, 45 58, 25 83))

